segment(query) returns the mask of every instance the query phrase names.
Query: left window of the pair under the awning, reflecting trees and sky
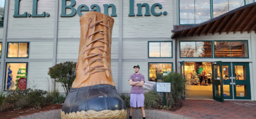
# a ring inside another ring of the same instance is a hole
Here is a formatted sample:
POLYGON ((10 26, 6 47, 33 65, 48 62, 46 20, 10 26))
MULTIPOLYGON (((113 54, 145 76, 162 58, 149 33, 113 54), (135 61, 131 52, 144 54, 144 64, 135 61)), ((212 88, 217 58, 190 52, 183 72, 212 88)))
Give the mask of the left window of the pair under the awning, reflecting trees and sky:
POLYGON ((180 41, 180 57, 212 57, 212 41, 180 41))

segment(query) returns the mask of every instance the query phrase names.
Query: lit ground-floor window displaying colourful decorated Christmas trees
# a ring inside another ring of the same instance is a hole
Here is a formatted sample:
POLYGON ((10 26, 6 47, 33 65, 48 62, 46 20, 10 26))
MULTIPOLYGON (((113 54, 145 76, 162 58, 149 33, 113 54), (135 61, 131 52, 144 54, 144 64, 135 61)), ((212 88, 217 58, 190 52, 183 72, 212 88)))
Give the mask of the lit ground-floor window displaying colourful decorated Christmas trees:
POLYGON ((28 63, 6 63, 4 90, 25 90, 27 88, 28 63))

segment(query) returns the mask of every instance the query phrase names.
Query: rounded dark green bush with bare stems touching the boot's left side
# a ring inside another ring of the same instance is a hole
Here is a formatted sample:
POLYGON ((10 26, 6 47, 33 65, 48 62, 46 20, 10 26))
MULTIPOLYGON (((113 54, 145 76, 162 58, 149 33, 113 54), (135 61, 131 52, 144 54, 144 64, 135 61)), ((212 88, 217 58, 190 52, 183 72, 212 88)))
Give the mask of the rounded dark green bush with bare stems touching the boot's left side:
POLYGON ((76 63, 63 62, 56 64, 49 68, 48 75, 50 75, 51 79, 55 79, 56 82, 61 83, 67 96, 76 78, 76 63))

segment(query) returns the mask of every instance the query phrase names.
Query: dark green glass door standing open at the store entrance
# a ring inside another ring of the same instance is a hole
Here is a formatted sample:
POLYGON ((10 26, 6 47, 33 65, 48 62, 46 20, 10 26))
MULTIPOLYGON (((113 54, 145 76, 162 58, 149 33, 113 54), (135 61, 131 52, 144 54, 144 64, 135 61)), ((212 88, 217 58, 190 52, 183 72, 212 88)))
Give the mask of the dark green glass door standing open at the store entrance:
POLYGON ((221 61, 212 63, 212 92, 213 99, 223 102, 223 79, 221 61))

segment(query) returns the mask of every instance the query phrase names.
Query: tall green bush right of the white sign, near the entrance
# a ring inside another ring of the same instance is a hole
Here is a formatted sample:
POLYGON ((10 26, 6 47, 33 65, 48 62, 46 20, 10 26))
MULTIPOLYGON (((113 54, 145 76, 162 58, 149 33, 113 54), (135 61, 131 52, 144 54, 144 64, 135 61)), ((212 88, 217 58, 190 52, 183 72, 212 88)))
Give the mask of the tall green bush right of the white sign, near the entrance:
POLYGON ((166 106, 181 106, 184 97, 186 79, 180 73, 171 72, 164 77, 164 82, 171 82, 171 92, 165 93, 166 106))

